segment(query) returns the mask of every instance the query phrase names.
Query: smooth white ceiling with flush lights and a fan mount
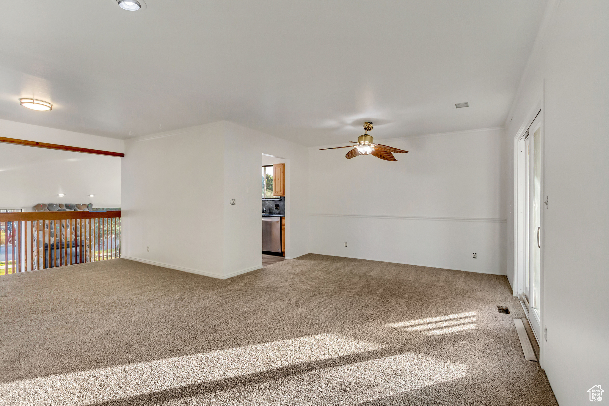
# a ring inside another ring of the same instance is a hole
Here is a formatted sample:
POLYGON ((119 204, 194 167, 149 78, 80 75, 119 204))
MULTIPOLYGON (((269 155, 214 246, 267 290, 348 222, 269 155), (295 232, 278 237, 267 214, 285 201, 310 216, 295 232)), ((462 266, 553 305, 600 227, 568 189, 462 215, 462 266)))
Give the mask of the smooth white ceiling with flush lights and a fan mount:
POLYGON ((4 1, 0 118, 113 138, 224 119, 304 145, 368 120, 378 139, 501 126, 546 1, 4 1))

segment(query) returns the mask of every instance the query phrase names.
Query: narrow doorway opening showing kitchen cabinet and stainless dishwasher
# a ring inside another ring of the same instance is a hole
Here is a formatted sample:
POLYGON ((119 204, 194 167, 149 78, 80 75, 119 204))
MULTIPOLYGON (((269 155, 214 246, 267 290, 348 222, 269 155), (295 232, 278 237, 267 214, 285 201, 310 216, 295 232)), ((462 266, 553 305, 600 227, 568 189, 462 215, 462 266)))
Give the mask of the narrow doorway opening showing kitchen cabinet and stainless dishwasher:
POLYGON ((262 266, 286 256, 286 159, 262 154, 262 266))

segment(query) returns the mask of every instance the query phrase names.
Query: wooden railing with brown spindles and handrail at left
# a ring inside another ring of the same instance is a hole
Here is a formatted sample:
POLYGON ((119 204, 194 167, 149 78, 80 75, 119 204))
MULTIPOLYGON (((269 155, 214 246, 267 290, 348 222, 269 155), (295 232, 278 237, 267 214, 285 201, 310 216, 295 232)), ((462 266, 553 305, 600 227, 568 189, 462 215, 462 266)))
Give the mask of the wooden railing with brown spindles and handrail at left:
POLYGON ((121 211, 0 213, 0 275, 121 257, 121 211))

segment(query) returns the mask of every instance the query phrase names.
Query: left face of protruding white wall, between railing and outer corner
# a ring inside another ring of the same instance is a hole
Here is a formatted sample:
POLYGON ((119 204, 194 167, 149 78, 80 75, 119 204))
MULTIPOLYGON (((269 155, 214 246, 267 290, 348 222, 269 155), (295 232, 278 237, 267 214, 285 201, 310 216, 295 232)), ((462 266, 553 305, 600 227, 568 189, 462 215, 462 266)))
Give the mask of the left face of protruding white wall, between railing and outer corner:
POLYGON ((223 142, 222 123, 125 141, 122 257, 224 276, 223 142))

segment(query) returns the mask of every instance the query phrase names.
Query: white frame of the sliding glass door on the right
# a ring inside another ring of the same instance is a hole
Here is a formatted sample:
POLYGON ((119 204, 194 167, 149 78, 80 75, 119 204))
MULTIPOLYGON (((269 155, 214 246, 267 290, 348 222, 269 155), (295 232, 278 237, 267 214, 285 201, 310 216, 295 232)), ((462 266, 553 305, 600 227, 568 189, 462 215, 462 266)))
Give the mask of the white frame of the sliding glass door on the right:
MULTIPOLYGON (((536 103, 535 107, 533 107, 529 114, 527 114, 526 120, 524 120, 523 125, 519 128, 513 139, 513 148, 514 148, 514 225, 513 225, 513 247, 514 247, 514 269, 513 269, 513 295, 519 296, 524 292, 524 261, 525 261, 525 252, 528 247, 526 247, 526 239, 525 233, 528 230, 524 229, 524 186, 523 186, 523 157, 524 150, 521 148, 524 145, 524 142, 521 142, 521 139, 524 135, 526 135, 527 130, 537 116, 540 116, 540 141, 541 141, 541 233, 540 233, 540 245, 541 245, 541 258, 540 258, 540 336, 537 337, 535 334, 537 341, 540 345, 540 366, 543 368, 543 348, 544 348, 544 332, 545 332, 545 324, 544 324, 544 231, 545 231, 545 222, 544 222, 544 214, 547 206, 543 201, 546 200, 546 191, 545 191, 545 182, 544 182, 544 155, 545 155, 545 122, 544 122, 544 108, 543 108, 543 97, 541 100, 536 103)), ((523 310, 527 313, 527 317, 529 316, 529 312, 527 307, 523 304, 523 310)))

